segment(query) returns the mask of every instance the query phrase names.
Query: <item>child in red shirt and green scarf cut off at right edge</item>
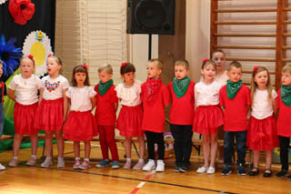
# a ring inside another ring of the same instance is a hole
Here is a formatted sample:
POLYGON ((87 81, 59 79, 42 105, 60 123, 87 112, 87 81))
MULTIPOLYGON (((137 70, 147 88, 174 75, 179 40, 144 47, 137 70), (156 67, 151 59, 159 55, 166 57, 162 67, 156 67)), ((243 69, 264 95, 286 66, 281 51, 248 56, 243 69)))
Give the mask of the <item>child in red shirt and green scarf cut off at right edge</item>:
MULTIPOLYGON (((283 178, 288 173, 288 148, 291 138, 291 65, 284 66, 282 69, 282 87, 278 91, 277 108, 279 109, 276 121, 276 134, 280 140, 280 160, 281 171, 276 173, 277 178, 283 178)), ((287 176, 291 179, 291 175, 287 176)))

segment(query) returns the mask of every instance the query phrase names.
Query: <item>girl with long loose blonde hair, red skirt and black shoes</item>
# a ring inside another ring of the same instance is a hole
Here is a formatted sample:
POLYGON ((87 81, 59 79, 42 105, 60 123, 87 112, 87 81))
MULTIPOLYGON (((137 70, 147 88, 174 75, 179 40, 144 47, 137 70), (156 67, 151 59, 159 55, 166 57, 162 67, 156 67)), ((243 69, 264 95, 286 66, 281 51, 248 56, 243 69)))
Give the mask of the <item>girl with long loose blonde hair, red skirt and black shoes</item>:
POLYGON ((250 176, 259 173, 260 151, 266 152, 264 177, 272 176, 273 148, 278 146, 276 136, 276 91, 272 88, 268 70, 264 66, 255 66, 251 80, 251 117, 248 122, 246 146, 254 152, 254 168, 250 176))

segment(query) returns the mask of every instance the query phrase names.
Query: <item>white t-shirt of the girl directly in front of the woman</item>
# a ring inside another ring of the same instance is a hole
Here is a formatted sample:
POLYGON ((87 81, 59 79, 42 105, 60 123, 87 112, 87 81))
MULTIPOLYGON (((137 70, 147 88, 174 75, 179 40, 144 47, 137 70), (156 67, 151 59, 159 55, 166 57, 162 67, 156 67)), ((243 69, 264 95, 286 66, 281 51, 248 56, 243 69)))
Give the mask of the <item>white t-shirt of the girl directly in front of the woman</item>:
POLYGON ((211 84, 198 82, 194 87, 196 107, 218 105, 221 87, 222 85, 216 81, 213 81, 211 84))

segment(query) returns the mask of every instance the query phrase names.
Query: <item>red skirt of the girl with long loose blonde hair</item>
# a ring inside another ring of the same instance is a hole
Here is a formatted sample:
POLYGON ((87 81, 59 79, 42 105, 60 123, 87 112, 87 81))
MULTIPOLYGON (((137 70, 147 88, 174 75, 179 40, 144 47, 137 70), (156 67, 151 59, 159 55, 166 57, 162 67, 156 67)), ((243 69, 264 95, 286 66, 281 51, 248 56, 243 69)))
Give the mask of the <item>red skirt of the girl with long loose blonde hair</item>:
POLYGON ((275 117, 256 119, 250 117, 248 122, 246 146, 257 151, 271 150, 279 146, 276 135, 275 117))

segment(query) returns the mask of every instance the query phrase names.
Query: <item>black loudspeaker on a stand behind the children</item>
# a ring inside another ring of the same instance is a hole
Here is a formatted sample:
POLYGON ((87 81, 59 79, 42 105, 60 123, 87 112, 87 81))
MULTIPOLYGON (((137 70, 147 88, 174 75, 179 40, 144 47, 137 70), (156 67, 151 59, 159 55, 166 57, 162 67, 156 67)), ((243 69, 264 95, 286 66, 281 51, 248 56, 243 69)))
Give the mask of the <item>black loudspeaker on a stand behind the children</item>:
POLYGON ((176 0, 127 0, 127 34, 175 34, 176 0))

